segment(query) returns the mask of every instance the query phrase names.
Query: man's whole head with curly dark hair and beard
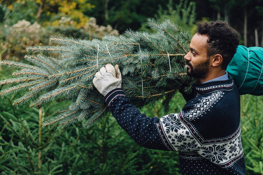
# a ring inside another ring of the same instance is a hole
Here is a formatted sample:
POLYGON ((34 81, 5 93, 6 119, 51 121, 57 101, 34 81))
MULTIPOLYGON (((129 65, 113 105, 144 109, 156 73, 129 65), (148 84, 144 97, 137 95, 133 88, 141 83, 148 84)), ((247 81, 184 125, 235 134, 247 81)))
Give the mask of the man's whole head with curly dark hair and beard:
POLYGON ((200 78, 214 69, 226 70, 236 53, 240 34, 226 22, 198 22, 196 34, 185 56, 188 75, 200 78))

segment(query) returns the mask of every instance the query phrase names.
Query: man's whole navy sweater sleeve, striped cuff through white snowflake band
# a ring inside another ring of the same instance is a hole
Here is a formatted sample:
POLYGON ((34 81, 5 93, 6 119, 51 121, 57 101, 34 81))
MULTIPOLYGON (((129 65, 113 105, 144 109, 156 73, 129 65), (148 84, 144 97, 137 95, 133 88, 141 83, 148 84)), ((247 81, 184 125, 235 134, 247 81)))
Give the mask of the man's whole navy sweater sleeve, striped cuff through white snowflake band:
POLYGON ((163 116, 160 120, 146 117, 130 104, 121 88, 109 92, 105 100, 119 125, 139 145, 149 149, 184 152, 200 148, 181 122, 180 113, 163 116))

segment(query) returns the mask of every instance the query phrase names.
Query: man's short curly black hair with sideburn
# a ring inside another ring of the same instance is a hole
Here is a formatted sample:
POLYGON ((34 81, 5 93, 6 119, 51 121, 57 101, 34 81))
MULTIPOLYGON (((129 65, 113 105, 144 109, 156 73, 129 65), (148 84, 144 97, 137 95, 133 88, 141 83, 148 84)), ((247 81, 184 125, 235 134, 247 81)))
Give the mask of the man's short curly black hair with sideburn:
POLYGON ((221 69, 226 70, 227 65, 236 53, 240 34, 225 21, 198 22, 196 33, 207 35, 207 57, 220 54, 223 57, 221 69))

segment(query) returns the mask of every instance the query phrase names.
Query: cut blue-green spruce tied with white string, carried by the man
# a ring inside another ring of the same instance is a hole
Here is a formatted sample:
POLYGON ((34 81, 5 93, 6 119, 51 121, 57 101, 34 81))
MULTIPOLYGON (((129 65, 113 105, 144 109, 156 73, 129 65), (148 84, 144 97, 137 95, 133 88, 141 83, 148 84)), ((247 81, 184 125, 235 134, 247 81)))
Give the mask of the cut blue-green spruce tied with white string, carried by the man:
MULTIPOLYGON (((109 112, 104 97, 93 86, 92 79, 99 69, 108 63, 119 65, 122 73, 122 89, 131 104, 143 107, 163 99, 163 109, 169 110, 169 102, 186 81, 184 55, 189 52, 191 34, 181 31, 172 21, 158 23, 148 20, 157 33, 127 30, 124 36, 104 36, 103 40, 79 40, 51 37, 57 46, 30 46, 25 59, 36 66, 4 60, 1 65, 21 68, 13 72, 16 78, 0 81, 0 85, 15 85, 0 92, 1 96, 29 89, 14 105, 31 102, 30 107, 41 107, 52 99, 70 101, 58 115, 44 126, 61 124, 68 126, 86 120, 89 127, 109 112), (46 56, 61 54, 62 60, 46 56), (16 85, 17 84, 17 85, 16 85)), ((191 91, 190 87, 185 89, 191 91)))

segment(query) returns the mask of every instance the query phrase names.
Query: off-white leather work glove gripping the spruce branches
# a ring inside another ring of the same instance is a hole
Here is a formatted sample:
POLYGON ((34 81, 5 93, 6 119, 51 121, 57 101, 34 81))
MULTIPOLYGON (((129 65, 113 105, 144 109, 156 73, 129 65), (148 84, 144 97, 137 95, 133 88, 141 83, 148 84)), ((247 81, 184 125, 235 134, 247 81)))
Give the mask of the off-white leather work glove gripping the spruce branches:
POLYGON ((119 66, 113 67, 111 64, 107 64, 100 68, 93 78, 93 84, 104 97, 113 89, 121 88, 122 75, 119 66))

